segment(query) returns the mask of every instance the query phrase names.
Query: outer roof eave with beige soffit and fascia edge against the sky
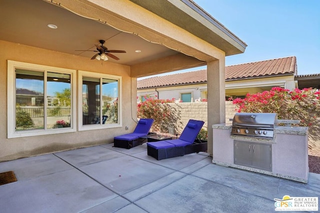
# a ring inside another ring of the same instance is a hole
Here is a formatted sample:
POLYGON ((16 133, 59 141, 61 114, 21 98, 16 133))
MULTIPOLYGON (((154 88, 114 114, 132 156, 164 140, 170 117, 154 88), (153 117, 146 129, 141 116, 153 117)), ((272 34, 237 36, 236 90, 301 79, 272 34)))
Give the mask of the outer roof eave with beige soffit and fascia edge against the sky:
POLYGON ((221 49, 225 55, 243 53, 243 41, 190 0, 130 0, 161 18, 181 27, 207 43, 221 49), (192 5, 192 7, 190 7, 192 5), (200 11, 201 14, 199 13, 200 11), (214 24, 213 24, 214 23, 214 24))

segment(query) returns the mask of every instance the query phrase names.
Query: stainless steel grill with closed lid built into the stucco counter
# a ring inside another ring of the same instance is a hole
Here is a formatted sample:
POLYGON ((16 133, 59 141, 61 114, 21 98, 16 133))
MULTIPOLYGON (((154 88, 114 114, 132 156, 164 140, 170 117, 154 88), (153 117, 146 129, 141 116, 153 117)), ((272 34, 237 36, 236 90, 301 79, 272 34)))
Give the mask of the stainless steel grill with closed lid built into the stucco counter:
POLYGON ((231 135, 273 138, 276 113, 236 113, 232 119, 231 135))

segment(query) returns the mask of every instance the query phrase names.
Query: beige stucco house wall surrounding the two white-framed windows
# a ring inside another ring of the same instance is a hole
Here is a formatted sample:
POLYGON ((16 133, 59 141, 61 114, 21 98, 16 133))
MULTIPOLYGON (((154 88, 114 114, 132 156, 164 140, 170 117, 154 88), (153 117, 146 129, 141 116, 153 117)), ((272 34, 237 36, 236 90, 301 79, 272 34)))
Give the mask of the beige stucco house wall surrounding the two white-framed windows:
POLYGON ((114 136, 132 132, 135 128, 132 116, 136 115, 136 84, 131 83, 129 66, 3 40, 0 40, 0 46, 0 161, 111 143, 114 136), (122 76, 122 127, 7 139, 7 60, 122 76))

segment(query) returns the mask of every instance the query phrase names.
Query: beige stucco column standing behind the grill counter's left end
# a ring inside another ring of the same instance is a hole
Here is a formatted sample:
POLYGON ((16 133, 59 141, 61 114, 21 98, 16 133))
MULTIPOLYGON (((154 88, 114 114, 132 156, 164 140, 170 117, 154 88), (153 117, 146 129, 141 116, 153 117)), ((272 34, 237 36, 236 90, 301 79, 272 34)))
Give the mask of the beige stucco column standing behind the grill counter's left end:
POLYGON ((225 123, 225 59, 207 62, 208 153, 212 156, 212 125, 225 123))

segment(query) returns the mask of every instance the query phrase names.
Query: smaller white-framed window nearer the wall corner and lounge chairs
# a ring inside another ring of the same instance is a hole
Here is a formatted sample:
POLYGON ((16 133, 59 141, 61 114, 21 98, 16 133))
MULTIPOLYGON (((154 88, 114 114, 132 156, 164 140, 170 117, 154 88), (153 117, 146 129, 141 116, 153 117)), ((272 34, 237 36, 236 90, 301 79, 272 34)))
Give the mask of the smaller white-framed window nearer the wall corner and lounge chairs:
POLYGON ((120 126, 121 77, 79 71, 79 130, 120 126))

